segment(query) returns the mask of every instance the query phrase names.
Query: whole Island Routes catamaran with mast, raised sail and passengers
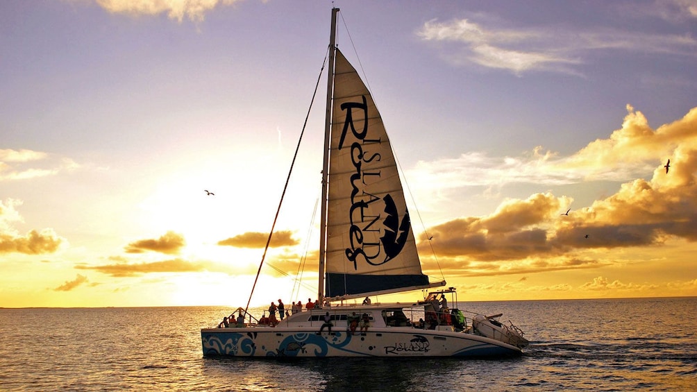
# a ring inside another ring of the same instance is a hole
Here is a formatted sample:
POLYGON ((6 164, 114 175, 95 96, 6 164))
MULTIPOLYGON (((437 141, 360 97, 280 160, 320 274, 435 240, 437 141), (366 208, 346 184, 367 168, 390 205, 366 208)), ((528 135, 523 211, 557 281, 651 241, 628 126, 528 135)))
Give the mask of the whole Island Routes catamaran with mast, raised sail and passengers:
POLYGON ((335 45, 338 11, 332 9, 322 171, 323 306, 280 322, 256 320, 240 307, 229 322, 201 329, 204 356, 521 355, 528 341, 520 329, 498 322, 499 315, 468 320, 441 302, 446 295, 457 295, 455 289, 445 288, 445 281, 430 282, 422 273, 380 113, 358 72, 335 45), (348 304, 412 290, 427 295, 415 302, 348 304), (238 322, 233 320, 236 315, 238 322))

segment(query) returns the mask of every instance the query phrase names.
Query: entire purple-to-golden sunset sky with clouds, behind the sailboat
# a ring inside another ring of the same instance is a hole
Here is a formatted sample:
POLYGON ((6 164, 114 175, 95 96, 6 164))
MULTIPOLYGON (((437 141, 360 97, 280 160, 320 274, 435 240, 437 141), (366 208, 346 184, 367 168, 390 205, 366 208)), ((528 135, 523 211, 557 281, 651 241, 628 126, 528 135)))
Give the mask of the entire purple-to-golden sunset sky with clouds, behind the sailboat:
MULTIPOLYGON (((697 295, 694 0, 334 4, 432 281, 697 295)), ((314 299, 331 8, 0 1, 0 307, 244 306, 321 75, 252 304, 314 299)))

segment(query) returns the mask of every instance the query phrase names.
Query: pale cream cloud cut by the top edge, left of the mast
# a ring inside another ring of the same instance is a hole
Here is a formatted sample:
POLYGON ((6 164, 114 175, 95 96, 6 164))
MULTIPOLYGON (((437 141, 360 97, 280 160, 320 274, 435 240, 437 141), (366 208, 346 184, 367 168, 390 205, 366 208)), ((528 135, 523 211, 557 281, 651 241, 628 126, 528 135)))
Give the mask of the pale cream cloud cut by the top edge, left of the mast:
POLYGON ((187 17, 192 22, 202 22, 204 15, 219 4, 229 6, 240 0, 96 0, 110 13, 128 15, 160 15, 167 13, 178 22, 187 17))

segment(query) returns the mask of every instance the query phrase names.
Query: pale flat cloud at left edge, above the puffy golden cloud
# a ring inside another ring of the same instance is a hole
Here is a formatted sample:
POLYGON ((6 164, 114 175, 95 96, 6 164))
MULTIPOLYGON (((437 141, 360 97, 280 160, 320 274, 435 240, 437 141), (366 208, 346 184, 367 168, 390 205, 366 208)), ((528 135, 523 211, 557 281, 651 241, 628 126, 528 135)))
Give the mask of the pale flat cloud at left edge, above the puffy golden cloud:
POLYGON ((46 152, 0 150, 0 182, 46 177, 78 167, 72 159, 52 157, 46 152))

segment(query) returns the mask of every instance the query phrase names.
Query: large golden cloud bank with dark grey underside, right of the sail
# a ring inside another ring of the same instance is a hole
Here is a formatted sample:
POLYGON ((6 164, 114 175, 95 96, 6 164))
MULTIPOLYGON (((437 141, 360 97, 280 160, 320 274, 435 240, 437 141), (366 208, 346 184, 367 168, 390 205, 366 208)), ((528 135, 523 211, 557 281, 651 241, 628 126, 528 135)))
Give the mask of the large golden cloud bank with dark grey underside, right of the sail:
MULTIPOLYGON (((560 168, 573 168, 585 173, 576 182, 605 180, 608 176, 602 167, 625 164, 645 173, 627 170, 622 175, 651 175, 650 180, 622 183, 615 194, 568 216, 560 216, 572 202, 568 196, 546 192, 510 198, 492 214, 452 219, 429 228, 434 240, 423 242, 422 249, 432 247, 441 267, 453 272, 487 276, 599 267, 615 261, 588 252, 663 246, 671 239, 697 241, 697 108, 657 130, 648 126, 641 112, 627 109, 622 128, 608 139, 593 141, 570 157, 533 162, 540 178, 553 173, 556 179, 560 168), (663 164, 668 157, 671 170, 666 173, 663 164)), ((427 258, 424 269, 437 270, 434 260, 427 258)))

